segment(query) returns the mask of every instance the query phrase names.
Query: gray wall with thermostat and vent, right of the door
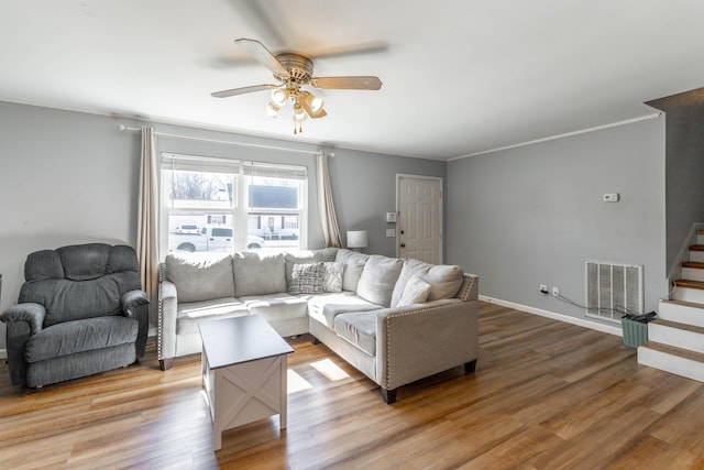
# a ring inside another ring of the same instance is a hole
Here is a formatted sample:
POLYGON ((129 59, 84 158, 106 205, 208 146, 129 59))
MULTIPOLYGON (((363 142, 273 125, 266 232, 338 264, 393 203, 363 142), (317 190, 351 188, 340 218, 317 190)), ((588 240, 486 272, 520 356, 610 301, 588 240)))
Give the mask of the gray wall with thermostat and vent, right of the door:
POLYGON ((584 319, 538 285, 584 304, 593 259, 645 265, 647 311, 667 294, 663 117, 453 161, 447 187, 448 254, 482 295, 584 319))

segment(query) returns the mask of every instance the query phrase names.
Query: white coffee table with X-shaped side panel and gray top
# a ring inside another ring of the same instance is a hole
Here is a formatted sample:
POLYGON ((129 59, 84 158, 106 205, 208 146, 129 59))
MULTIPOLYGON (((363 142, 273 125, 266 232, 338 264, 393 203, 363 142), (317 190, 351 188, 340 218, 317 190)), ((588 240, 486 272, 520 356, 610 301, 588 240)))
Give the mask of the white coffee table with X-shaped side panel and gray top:
POLYGON ((286 429, 286 363, 292 347, 258 315, 200 323, 202 385, 212 446, 222 431, 278 414, 286 429))

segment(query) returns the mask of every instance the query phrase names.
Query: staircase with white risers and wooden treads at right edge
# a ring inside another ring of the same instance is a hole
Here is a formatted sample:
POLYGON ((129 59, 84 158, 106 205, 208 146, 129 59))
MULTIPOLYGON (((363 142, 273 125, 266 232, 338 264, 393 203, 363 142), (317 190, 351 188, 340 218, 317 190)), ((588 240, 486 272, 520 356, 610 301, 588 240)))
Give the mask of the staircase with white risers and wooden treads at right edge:
POLYGON ((660 300, 658 319, 648 324, 638 363, 704 382, 704 230, 689 258, 672 299, 660 300))

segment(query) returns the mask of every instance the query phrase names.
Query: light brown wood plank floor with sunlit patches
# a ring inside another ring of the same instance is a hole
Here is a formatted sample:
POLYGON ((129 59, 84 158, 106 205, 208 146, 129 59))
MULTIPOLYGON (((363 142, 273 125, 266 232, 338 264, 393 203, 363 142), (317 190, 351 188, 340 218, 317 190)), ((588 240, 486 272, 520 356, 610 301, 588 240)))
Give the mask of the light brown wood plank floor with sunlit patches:
POLYGON ((704 468, 701 383, 637 364, 615 336, 491 304, 480 318, 475 374, 402 387, 391 406, 324 346, 292 340, 309 387, 289 391, 288 429, 228 430, 218 452, 199 357, 161 372, 152 345, 139 365, 30 392, 2 367, 0 468, 704 468))

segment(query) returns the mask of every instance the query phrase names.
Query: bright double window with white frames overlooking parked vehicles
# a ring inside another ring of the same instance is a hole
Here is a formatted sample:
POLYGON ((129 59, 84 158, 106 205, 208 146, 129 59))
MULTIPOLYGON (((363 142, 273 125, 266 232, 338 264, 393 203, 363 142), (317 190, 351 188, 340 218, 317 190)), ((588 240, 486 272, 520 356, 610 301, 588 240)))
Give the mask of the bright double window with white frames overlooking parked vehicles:
POLYGON ((162 154, 161 252, 305 248, 306 168, 162 154))

